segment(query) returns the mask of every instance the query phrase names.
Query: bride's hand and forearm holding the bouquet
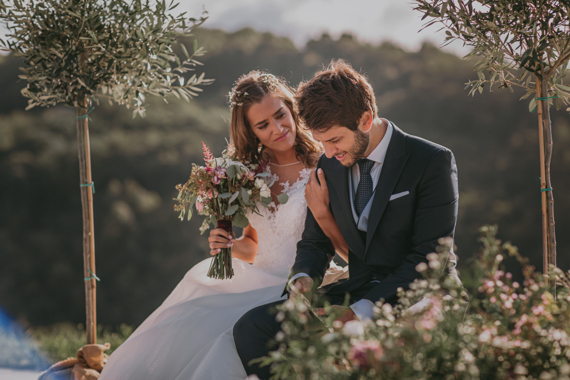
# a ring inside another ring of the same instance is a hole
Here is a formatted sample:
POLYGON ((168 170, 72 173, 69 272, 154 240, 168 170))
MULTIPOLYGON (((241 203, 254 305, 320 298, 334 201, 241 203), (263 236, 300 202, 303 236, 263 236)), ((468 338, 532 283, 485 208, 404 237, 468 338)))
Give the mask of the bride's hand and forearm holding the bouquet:
POLYGON ((230 235, 221 228, 215 228, 210 231, 208 241, 210 242, 210 255, 219 254, 221 248, 227 248, 227 244, 231 244, 231 256, 246 263, 253 263, 257 255, 257 231, 251 227, 251 224, 243 228, 243 235, 238 239, 235 239, 234 232, 230 235))

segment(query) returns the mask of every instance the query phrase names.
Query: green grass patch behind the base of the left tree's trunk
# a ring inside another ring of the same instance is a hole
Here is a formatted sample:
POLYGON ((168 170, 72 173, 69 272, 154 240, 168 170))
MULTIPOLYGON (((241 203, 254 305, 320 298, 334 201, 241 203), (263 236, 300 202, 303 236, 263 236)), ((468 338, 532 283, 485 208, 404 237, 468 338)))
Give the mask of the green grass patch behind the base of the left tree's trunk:
MULTIPOLYGON (((133 333, 133 326, 121 324, 116 329, 97 326, 97 343, 111 343, 111 348, 105 351, 111 354, 133 333)), ((32 328, 29 330, 38 349, 49 361, 58 362, 68 357, 75 357, 78 349, 86 344, 86 332, 83 324, 55 324, 47 328, 32 328)))

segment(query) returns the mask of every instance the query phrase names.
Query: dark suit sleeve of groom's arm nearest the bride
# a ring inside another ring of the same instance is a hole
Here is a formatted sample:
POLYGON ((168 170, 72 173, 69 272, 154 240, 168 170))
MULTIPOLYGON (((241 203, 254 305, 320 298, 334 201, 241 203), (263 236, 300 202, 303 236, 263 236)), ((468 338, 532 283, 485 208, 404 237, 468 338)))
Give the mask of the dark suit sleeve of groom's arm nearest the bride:
MULTIPOLYGON (((317 164, 320 167, 323 161, 323 156, 317 164)), ((329 186, 331 186, 329 184, 329 186)), ((295 264, 291 268, 291 275, 297 273, 307 273, 314 281, 315 288, 323 281, 324 272, 328 268, 335 255, 335 248, 327 235, 321 230, 319 223, 317 223, 315 216, 307 207, 307 218, 305 219, 305 229, 301 240, 297 243, 297 255, 295 257, 295 264)))

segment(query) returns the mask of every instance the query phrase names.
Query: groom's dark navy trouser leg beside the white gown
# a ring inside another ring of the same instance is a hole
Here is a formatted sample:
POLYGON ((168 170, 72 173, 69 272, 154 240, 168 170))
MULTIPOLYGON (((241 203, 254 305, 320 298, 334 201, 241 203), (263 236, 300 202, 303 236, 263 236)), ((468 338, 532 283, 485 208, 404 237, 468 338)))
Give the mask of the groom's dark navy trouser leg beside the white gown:
POLYGON ((269 342, 281 329, 280 322, 275 320, 274 309, 283 302, 281 300, 253 308, 243 314, 234 325, 235 348, 242 359, 243 367, 248 375, 256 374, 261 380, 271 376, 270 366, 259 367, 259 363, 249 366, 248 363, 251 359, 268 356, 270 351, 278 349, 278 346, 269 342))

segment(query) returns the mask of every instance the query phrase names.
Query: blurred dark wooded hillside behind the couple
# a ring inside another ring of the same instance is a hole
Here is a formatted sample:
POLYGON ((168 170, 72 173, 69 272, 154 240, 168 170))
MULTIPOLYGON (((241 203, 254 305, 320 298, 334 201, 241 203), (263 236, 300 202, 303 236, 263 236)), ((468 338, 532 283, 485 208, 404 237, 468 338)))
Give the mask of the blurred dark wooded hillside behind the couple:
MULTIPOLYGON (((437 47, 405 52, 323 35, 298 51, 290 40, 245 29, 201 29, 198 42, 213 84, 192 103, 152 101, 146 119, 101 104, 91 113, 98 321, 139 324, 207 254, 201 218, 181 223, 174 185, 215 154, 228 136, 226 94, 239 75, 270 70, 292 84, 344 58, 367 73, 380 116, 450 148, 459 169, 456 243, 460 266, 478 248, 477 227, 499 223, 540 267, 540 191, 536 114, 508 91, 473 98, 463 91, 470 63, 437 47), (462 261, 461 261, 462 260, 462 261)), ((189 41, 187 46, 191 46, 189 41)), ((73 109, 23 111, 18 59, 0 56, 0 305, 32 325, 82 322, 85 316, 82 216, 73 109)), ((559 266, 570 268, 570 116, 552 112, 559 266)))

